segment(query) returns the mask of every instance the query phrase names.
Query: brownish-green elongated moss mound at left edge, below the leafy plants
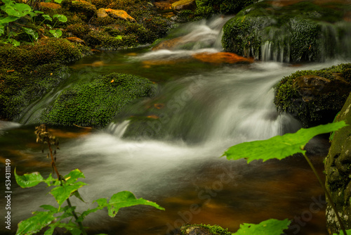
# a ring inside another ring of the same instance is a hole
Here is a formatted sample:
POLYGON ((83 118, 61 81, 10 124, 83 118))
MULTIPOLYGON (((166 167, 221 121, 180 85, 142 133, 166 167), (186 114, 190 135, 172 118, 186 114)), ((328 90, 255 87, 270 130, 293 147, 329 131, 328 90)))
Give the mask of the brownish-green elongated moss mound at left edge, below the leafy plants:
POLYGON ((34 46, 0 44, 0 68, 28 70, 46 63, 77 61, 88 53, 91 52, 86 46, 72 44, 66 39, 41 39, 34 46))

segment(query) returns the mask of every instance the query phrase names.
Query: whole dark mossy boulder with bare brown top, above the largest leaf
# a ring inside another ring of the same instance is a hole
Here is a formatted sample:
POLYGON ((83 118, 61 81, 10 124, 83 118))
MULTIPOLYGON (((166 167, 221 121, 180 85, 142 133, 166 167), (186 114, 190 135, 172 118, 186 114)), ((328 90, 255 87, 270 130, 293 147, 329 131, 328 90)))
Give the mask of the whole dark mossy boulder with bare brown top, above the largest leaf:
POLYGON ((303 70, 284 77, 276 87, 279 111, 305 127, 332 122, 351 91, 351 63, 322 70, 303 70))

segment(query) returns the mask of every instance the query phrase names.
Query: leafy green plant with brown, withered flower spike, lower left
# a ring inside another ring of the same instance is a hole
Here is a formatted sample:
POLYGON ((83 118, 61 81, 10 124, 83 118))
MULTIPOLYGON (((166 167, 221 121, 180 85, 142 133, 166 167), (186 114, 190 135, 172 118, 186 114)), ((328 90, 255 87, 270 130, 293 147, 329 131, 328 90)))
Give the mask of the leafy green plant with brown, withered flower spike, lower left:
POLYGON ((19 186, 22 188, 29 188, 32 186, 37 186, 37 184, 44 182, 48 186, 53 186, 50 193, 55 198, 58 203, 58 207, 53 205, 41 205, 40 207, 46 211, 36 211, 33 212, 34 216, 29 217, 27 220, 23 220, 18 224, 18 230, 16 234, 35 234, 41 229, 48 228, 44 235, 51 235, 56 227, 65 228, 73 235, 84 234, 86 231, 83 227, 82 222, 84 218, 96 212, 97 210, 102 210, 107 208, 108 215, 114 217, 120 208, 125 208, 133 205, 151 205, 159 210, 164 210, 157 203, 147 201, 143 198, 135 198, 133 193, 129 191, 121 191, 115 193, 110 201, 107 198, 99 198, 93 203, 97 203, 93 209, 88 209, 80 214, 76 212, 76 207, 72 206, 69 198, 71 196, 76 196, 79 200, 84 201, 78 189, 85 186, 86 183, 78 181, 79 178, 84 178, 83 172, 80 170, 72 170, 69 174, 62 176, 56 167, 56 150, 58 149, 58 139, 48 132, 45 125, 40 125, 36 127, 35 134, 37 134, 37 142, 41 142, 48 145, 48 158, 51 158, 51 166, 53 172, 57 175, 57 179, 54 179, 52 174, 48 178, 44 179, 39 172, 33 172, 30 174, 23 174, 22 176, 16 174, 15 179, 19 186), (55 146, 53 148, 52 146, 55 146), (66 206, 62 207, 62 204, 67 202, 66 206), (67 222, 67 218, 69 218, 67 222))

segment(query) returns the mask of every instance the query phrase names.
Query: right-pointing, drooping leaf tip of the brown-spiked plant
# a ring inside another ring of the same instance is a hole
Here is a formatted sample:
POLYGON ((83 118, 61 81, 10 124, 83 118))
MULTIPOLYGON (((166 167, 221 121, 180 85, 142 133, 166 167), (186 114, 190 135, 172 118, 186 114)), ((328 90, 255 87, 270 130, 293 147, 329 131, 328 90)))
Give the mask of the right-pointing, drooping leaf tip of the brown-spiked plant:
POLYGON ((147 201, 143 198, 135 198, 134 194, 130 191, 121 191, 119 193, 115 193, 110 199, 109 205, 107 205, 108 215, 110 215, 110 217, 114 217, 117 215, 120 208, 126 208, 132 205, 151 205, 159 210, 164 210, 164 208, 157 205, 157 203, 147 201))

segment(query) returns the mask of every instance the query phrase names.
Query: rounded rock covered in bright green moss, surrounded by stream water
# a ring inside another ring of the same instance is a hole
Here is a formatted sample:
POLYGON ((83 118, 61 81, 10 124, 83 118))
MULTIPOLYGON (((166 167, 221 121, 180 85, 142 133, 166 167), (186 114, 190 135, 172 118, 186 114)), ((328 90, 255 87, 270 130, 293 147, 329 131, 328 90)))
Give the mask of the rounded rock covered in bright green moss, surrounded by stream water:
POLYGON ((105 127, 126 103, 154 93, 154 84, 149 80, 114 72, 62 91, 53 106, 41 115, 41 122, 105 127))

